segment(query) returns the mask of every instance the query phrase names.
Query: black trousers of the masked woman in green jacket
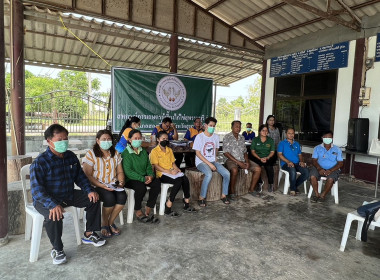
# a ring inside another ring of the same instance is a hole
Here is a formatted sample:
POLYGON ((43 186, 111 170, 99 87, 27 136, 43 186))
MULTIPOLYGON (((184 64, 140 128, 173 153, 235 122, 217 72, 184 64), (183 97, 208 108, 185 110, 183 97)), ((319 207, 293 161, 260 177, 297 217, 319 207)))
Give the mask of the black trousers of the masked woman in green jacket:
POLYGON ((135 210, 141 210, 141 202, 147 191, 146 187, 150 187, 149 198, 146 206, 149 208, 154 208, 156 205, 157 197, 161 192, 161 181, 158 178, 154 178, 152 183, 145 185, 144 182, 137 180, 130 180, 127 182, 127 188, 135 191, 135 210))

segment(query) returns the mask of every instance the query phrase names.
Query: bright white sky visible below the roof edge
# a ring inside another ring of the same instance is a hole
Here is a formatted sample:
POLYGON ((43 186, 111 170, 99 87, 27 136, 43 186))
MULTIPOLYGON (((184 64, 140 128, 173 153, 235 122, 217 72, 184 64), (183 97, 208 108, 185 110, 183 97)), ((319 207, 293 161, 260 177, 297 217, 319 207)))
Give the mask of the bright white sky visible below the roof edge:
MULTIPOLYGON (((10 71, 9 63, 6 63, 6 71, 10 71)), ((40 66, 32 66, 25 65, 25 69, 32 72, 34 75, 48 75, 52 78, 57 77, 57 74, 61 71, 61 69, 56 68, 48 68, 48 67, 40 67, 40 66)), ((243 98, 248 96, 248 87, 249 85, 253 85, 254 81, 258 74, 249 76, 245 79, 237 81, 235 83, 230 84, 227 87, 218 86, 216 89, 216 99, 226 98, 227 101, 232 101, 237 99, 239 96, 243 98)), ((108 92, 111 89, 111 74, 96 74, 91 73, 91 78, 98 78, 101 82, 101 92, 108 92)))

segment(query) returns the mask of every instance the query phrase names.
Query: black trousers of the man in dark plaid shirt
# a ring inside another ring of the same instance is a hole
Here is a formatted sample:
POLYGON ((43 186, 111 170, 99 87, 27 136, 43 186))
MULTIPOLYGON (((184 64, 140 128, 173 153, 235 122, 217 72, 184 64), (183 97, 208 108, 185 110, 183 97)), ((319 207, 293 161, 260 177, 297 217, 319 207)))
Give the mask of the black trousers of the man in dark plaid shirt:
MULTIPOLYGON (((62 207, 74 206, 78 208, 85 208, 86 211, 86 231, 99 231, 100 230, 100 203, 92 203, 87 194, 81 190, 74 190, 73 199, 65 200, 62 207)), ((62 243, 62 219, 59 221, 53 221, 49 219, 50 210, 45 208, 41 203, 36 202, 34 206, 36 210, 45 218, 44 226, 46 228, 47 235, 50 239, 53 248, 61 251, 63 250, 62 243)))

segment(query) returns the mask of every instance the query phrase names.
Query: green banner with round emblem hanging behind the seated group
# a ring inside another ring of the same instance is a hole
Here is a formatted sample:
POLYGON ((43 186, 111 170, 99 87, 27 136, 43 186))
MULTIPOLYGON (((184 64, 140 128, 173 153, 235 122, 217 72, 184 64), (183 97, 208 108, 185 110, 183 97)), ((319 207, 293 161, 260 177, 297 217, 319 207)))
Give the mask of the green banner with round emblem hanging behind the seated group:
POLYGON ((111 77, 114 133, 132 116, 141 119, 142 132, 151 132, 165 117, 186 131, 195 118, 211 115, 212 79, 119 67, 111 77))

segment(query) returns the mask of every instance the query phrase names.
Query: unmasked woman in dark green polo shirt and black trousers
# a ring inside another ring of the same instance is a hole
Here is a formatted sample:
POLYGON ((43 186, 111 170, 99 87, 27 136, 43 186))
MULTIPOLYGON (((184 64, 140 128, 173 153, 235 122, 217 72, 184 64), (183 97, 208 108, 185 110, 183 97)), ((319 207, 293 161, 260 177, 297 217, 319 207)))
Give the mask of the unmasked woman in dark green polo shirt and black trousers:
POLYGON ((268 192, 273 192, 273 165, 276 161, 274 158, 274 151, 274 141, 272 138, 268 137, 268 127, 267 125, 262 124, 259 127, 259 135, 252 140, 251 153, 253 161, 265 168, 268 176, 268 192))

